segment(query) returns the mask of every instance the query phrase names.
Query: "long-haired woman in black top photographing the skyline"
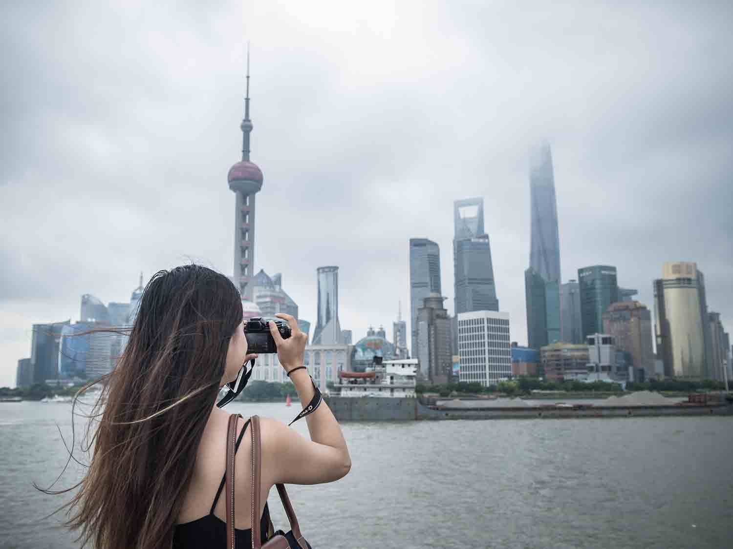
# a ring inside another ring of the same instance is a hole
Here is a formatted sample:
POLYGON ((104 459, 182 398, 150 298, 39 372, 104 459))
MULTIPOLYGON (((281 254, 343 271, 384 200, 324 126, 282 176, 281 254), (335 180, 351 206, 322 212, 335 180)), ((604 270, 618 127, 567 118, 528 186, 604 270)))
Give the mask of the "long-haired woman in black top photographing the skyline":
MULTIPOLYGON (((279 362, 301 403, 314 396, 303 365, 307 335, 290 315, 292 336, 274 324, 279 362), (293 371, 295 370, 295 371, 293 371)), ((240 294, 232 282, 199 265, 158 272, 97 406, 103 414, 94 455, 70 501, 68 526, 97 549, 224 547, 223 485, 229 414, 215 406, 219 389, 248 360, 240 294), (105 402, 103 405, 101 401, 105 402), (223 491, 223 490, 222 490, 223 491)), ((317 484, 340 479, 351 460, 339 424, 322 403, 306 417, 311 440, 262 418, 262 493, 256 509, 267 535, 266 504, 276 483, 317 484)), ((246 429, 243 419, 238 430, 246 429)), ((251 468, 251 439, 242 436, 238 471, 251 468)), ((251 475, 235 477, 237 547, 251 545, 251 475)), ((265 541, 263 539, 262 541, 265 541)))

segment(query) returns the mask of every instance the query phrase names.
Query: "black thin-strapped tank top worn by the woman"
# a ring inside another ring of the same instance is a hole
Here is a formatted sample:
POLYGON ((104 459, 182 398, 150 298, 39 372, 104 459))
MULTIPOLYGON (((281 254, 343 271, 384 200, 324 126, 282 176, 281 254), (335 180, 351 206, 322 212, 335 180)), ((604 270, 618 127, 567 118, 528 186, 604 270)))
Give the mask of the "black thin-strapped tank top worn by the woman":
MULTIPOLYGON (((244 424, 242 432, 239 433, 237 438, 237 444, 235 446, 235 453, 239 449, 239 443, 242 441, 244 432, 247 430, 249 425, 249 419, 244 424)), ((221 496, 221 490, 224 490, 224 478, 221 479, 219 489, 216 490, 216 497, 211 505, 211 510, 208 515, 196 520, 191 520, 188 523, 177 524, 173 534, 173 548, 174 549, 200 549, 202 547, 226 547, 226 522, 214 515, 214 509, 216 503, 219 501, 221 496)), ((259 531, 262 533, 262 543, 267 541, 268 526, 270 524, 270 509, 268 504, 265 503, 265 509, 262 511, 262 519, 259 520, 259 531)), ((252 546, 252 530, 240 530, 235 529, 235 541, 237 547, 251 547, 252 546)))

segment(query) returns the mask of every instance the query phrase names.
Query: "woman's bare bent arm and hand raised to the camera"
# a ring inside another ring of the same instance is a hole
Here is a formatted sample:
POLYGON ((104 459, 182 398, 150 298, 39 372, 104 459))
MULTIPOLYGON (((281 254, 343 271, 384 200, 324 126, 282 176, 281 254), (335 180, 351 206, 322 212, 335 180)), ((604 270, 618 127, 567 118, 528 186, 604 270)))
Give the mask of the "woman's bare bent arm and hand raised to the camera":
MULTIPOLYGON (((290 324, 292 335, 282 339, 274 324, 270 333, 277 345, 280 364, 286 372, 303 365, 303 353, 308 336, 298 329, 298 322, 290 315, 276 315, 290 324)), ((290 376, 302 406, 315 394, 307 370, 298 370, 290 376)), ((275 419, 262 419, 262 475, 271 484, 318 484, 344 477, 351 468, 351 458, 339 422, 325 401, 306 416, 311 440, 275 419)))

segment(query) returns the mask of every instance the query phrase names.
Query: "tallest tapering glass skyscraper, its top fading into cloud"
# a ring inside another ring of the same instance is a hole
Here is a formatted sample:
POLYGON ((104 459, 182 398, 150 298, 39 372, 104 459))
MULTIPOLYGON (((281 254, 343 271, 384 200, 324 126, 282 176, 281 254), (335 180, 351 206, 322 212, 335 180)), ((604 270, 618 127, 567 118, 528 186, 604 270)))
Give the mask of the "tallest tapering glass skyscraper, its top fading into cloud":
POLYGON ((555 177, 549 143, 530 153, 531 241, 524 272, 528 346, 539 349, 560 340, 560 239, 555 177))

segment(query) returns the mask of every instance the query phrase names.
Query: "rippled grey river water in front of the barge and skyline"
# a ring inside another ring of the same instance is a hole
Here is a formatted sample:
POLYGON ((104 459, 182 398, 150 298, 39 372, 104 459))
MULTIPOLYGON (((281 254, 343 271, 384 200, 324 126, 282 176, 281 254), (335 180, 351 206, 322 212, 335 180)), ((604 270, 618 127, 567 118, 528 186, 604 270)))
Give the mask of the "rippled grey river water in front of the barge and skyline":
MULTIPOLYGON (((284 404, 227 406, 289 420, 284 404)), ((0 547, 77 548, 44 518, 66 461, 65 403, 0 403, 0 547)), ((733 539, 733 418, 346 423, 353 467, 288 488, 318 548, 723 548, 733 539)), ((307 435, 305 422, 294 425, 307 435)), ((62 487, 75 482, 71 467, 62 487)), ((276 527, 287 529, 276 491, 276 527)))

